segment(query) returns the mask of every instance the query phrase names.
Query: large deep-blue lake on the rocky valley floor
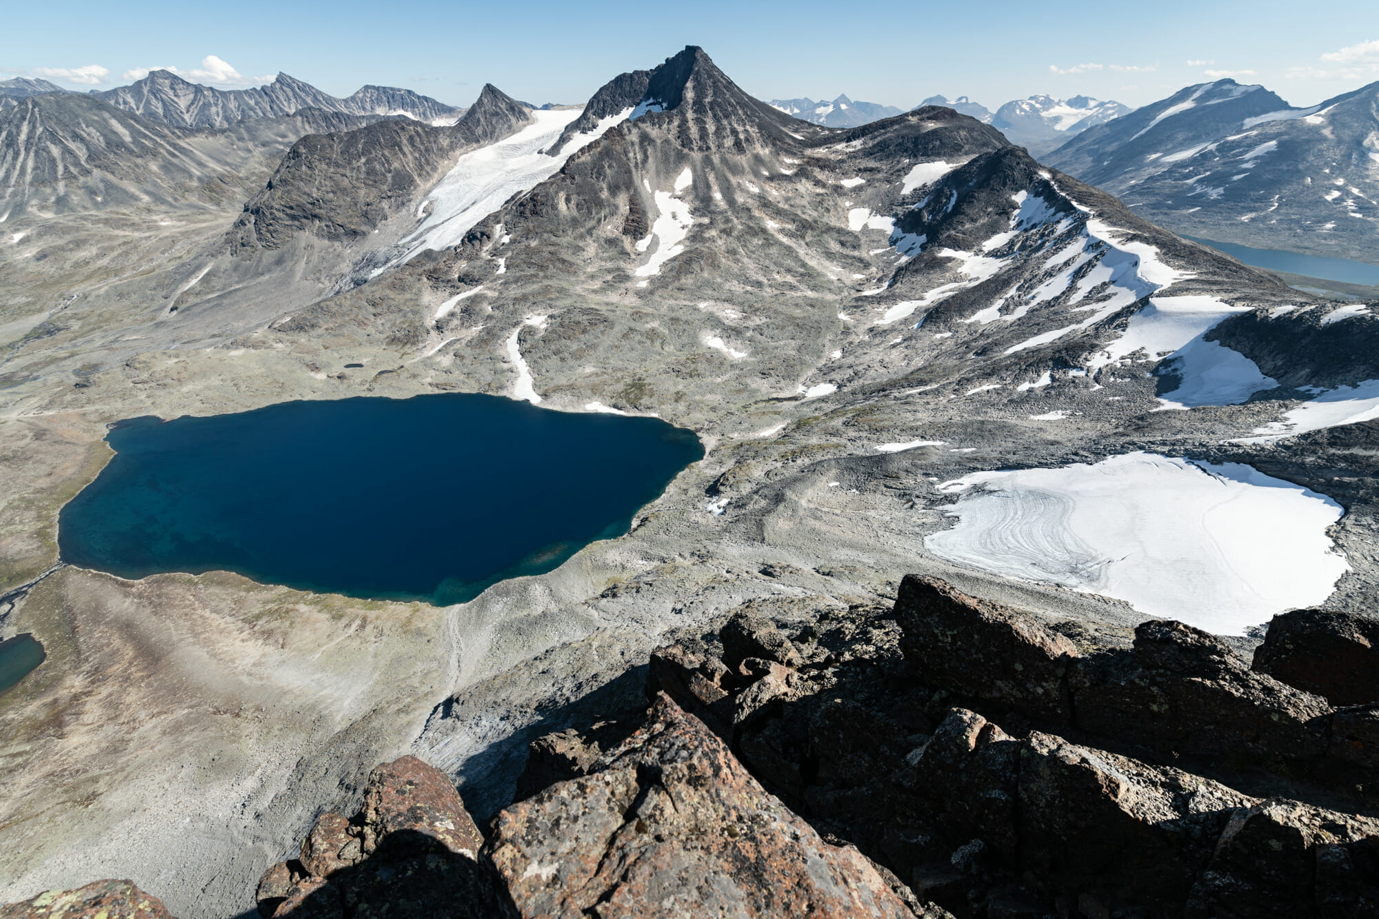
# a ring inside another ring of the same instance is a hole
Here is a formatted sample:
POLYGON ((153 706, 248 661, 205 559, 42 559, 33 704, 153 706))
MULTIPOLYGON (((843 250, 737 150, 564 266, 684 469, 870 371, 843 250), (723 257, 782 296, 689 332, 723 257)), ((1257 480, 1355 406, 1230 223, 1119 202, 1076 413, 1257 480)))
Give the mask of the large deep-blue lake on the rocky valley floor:
POLYGON ((62 508, 62 560, 436 606, 623 535, 703 458, 658 418, 461 393, 143 417, 106 440, 116 455, 62 508))

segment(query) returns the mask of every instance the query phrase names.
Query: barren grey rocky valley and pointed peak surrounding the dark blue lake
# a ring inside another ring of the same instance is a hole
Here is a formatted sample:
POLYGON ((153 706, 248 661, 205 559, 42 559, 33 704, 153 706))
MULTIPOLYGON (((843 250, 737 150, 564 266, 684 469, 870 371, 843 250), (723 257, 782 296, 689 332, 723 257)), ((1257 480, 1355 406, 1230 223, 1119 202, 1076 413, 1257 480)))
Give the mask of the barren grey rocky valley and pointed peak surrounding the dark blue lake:
MULTIPOLYGON (((1218 662, 1276 613, 1373 613, 1369 306, 1180 239, 952 109, 827 128, 690 47, 581 108, 485 87, 454 124, 112 112, 0 109, 0 638, 47 653, 0 697, 0 901, 130 878, 172 915, 252 913, 265 871, 407 755, 503 827, 532 741, 645 709, 652 651, 709 660, 688 643, 743 607, 803 644, 924 575, 1018 607, 1054 657, 1176 620, 1218 662), (439 392, 656 415, 706 455, 626 535, 448 607, 59 557, 114 422, 439 392), (1098 476, 1139 504, 1092 545, 1098 476)), ((667 704, 651 723, 718 756, 667 704)), ((914 733, 985 730, 927 718, 914 733)), ((1211 793, 1302 796, 1266 785, 1211 793)), ((1342 798, 1309 800, 1373 817, 1342 798)))

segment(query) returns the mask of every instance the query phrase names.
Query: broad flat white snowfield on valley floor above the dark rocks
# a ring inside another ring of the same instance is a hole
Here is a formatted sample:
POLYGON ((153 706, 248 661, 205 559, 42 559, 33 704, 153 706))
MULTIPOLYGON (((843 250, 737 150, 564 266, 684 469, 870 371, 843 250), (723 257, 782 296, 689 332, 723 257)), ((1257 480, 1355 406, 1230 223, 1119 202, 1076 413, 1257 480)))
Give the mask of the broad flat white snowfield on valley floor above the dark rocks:
POLYGON ((1005 577, 1127 600, 1156 618, 1238 635, 1321 603, 1349 570, 1331 498, 1241 464, 1131 453, 1095 465, 978 472, 952 530, 925 548, 1005 577))

